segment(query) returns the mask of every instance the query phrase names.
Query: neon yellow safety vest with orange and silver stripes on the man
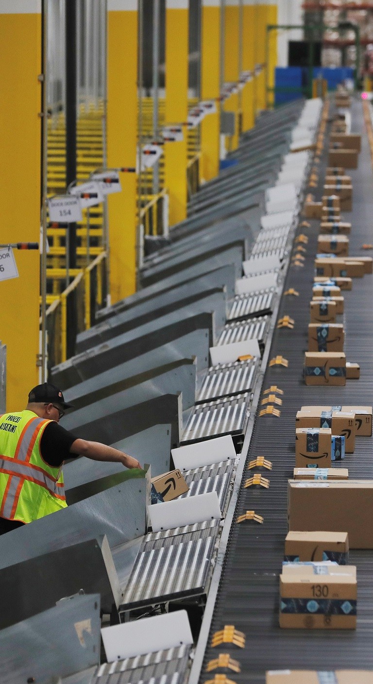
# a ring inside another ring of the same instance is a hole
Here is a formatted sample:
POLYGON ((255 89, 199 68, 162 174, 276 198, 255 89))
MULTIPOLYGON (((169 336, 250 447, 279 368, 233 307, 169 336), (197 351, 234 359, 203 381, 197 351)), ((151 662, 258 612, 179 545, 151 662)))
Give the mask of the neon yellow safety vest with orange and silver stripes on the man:
POLYGON ((0 517, 31 523, 66 508, 62 468, 40 453, 42 433, 51 421, 33 411, 0 416, 0 517))

